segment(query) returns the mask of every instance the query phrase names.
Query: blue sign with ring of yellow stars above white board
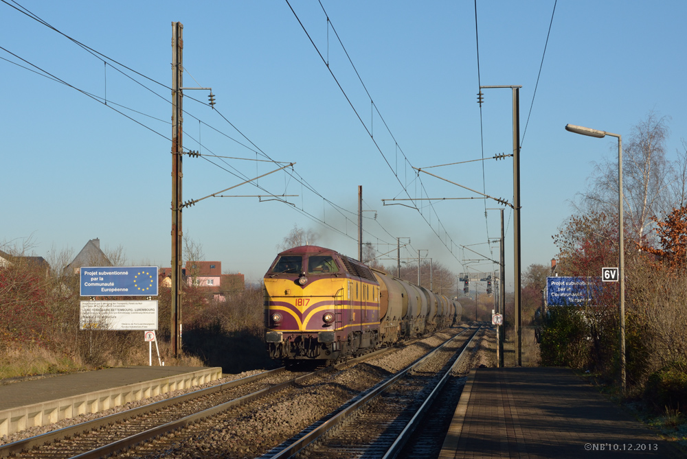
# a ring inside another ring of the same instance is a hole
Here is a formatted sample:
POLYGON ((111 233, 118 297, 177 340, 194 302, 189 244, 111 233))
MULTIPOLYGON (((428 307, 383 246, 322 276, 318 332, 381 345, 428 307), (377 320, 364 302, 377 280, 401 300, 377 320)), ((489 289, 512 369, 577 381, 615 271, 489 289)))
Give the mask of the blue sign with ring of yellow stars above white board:
POLYGON ((157 266, 81 267, 81 296, 157 296, 157 266))

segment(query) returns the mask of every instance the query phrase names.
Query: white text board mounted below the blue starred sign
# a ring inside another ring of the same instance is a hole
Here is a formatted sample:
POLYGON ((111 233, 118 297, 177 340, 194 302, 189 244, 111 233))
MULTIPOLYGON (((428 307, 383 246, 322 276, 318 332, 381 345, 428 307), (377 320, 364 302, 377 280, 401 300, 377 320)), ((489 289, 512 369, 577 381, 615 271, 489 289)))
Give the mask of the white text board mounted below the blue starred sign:
POLYGON ((157 300, 82 301, 82 330, 157 330, 157 300))

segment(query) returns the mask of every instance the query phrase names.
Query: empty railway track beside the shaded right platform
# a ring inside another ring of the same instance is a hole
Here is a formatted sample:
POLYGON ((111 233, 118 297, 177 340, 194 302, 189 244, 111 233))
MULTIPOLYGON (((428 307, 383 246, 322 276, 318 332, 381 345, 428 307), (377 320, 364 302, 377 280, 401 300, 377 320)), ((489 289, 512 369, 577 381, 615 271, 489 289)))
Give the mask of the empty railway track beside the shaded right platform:
POLYGON ((462 344, 455 342, 463 332, 458 333, 260 459, 396 457, 481 328, 462 344), (451 357, 440 355, 447 350, 451 357), (429 368, 420 374, 423 366, 437 364, 440 370, 429 368))

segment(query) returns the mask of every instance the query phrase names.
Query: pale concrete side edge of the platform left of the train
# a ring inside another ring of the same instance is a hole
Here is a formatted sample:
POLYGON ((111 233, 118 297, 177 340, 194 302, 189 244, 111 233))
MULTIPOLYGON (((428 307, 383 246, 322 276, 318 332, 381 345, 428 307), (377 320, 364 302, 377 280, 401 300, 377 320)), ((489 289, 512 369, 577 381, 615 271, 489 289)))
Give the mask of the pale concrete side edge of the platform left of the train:
POLYGON ((108 410, 130 401, 146 399, 171 390, 199 386, 221 377, 221 367, 203 368, 191 373, 181 373, 151 381, 2 410, 0 411, 0 436, 14 434, 28 427, 52 424, 79 414, 108 410))

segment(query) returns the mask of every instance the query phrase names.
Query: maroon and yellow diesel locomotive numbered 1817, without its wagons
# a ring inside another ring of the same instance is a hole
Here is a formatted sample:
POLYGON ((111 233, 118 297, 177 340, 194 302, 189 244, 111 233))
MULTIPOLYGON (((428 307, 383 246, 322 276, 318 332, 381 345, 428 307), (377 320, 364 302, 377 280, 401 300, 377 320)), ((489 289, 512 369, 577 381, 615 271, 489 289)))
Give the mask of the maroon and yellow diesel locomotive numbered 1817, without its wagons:
POLYGON ((379 342, 380 285, 368 266, 333 250, 284 250, 264 275, 265 341, 271 357, 356 355, 379 342))

